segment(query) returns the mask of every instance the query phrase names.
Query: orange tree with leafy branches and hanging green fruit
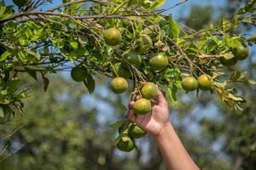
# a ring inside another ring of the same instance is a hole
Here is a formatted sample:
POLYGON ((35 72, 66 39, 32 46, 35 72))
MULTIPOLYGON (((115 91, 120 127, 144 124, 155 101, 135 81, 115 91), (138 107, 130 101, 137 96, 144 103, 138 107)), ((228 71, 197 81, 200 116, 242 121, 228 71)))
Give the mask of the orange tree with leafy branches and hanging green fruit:
MULTIPOLYGON (((0 3, 1 122, 22 113, 28 88, 20 83, 20 73, 35 80, 40 75, 46 90, 48 74, 71 71, 73 80, 83 82, 90 93, 96 75, 113 77, 116 94, 132 89, 131 99, 137 94, 145 98, 138 100, 137 114, 150 111, 148 99, 155 97, 155 84, 172 101, 177 100, 179 88, 209 90, 230 107, 241 109, 245 99, 229 82, 254 83, 232 66, 247 58, 255 36, 231 32, 241 23, 255 26, 255 0, 230 20, 221 19, 201 31, 179 25, 172 14, 166 14, 173 7, 160 9, 163 0, 63 0, 54 8, 41 9, 50 2, 14 1, 18 11, 0 3)), ((127 120, 111 127, 119 128, 115 144, 120 150, 132 150, 135 136, 143 134, 127 120)))

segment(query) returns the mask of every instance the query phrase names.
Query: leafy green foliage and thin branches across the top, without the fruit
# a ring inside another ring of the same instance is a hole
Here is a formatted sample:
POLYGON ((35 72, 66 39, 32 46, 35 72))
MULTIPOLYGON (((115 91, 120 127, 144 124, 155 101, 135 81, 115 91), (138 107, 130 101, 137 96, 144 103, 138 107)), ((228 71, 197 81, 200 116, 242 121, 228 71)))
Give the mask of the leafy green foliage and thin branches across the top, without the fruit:
MULTIPOLYGON (((230 29, 241 22, 254 23, 255 1, 247 3, 231 20, 220 20, 218 26, 201 31, 181 27, 173 20, 172 14, 166 15, 163 10, 154 9, 160 7, 162 1, 64 1, 55 8, 38 10, 44 3, 50 2, 30 2, 26 8, 14 13, 13 6, 1 2, 1 78, 6 86, 15 84, 20 72, 27 72, 36 80, 40 73, 46 90, 49 81, 45 76, 69 70, 68 64, 72 62, 86 69, 88 77, 84 84, 92 92, 95 88, 93 77, 97 74, 112 77, 112 66, 120 61, 129 67, 135 89, 139 82, 156 82, 163 90, 173 87, 167 92, 170 91, 172 99, 176 99, 177 88, 180 88, 177 84, 183 73, 193 77, 207 73, 214 79, 212 92, 225 103, 239 108, 238 104, 244 102, 235 95, 234 88, 226 88, 222 77, 229 72, 223 72, 218 58, 231 59, 232 48, 247 44, 241 35, 230 34, 230 29), (104 42, 105 30, 112 27, 118 28, 122 34, 118 46, 104 42), (136 67, 123 54, 137 48, 142 33, 151 37, 153 45, 143 53, 143 65, 136 67), (150 70, 148 59, 159 53, 166 55, 169 64, 165 71, 154 72, 150 70), (176 77, 170 77, 172 71, 177 71, 176 77)), ((5 91, 9 87, 1 87, 2 105, 20 111, 20 99, 26 97, 25 90, 20 90, 20 85, 9 91, 5 91)), ((7 111, 4 112, 7 115, 7 111)))

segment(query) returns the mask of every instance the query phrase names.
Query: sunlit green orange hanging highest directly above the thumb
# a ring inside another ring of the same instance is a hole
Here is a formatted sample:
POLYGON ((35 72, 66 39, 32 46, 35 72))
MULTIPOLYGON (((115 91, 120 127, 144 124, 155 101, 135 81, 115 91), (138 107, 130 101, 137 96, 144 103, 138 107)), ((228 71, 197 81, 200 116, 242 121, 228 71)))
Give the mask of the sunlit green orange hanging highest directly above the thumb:
POLYGON ((162 71, 168 65, 168 59, 165 54, 157 54, 149 59, 149 65, 153 71, 162 71))

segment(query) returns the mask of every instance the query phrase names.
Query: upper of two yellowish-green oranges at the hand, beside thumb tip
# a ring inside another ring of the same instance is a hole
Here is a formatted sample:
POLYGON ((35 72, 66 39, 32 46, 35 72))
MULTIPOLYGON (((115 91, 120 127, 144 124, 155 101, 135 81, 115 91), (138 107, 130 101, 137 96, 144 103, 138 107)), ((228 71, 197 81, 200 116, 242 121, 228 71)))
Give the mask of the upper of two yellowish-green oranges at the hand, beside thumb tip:
POLYGON ((141 93, 144 99, 154 99, 157 96, 158 88, 154 82, 147 82, 143 85, 141 93))

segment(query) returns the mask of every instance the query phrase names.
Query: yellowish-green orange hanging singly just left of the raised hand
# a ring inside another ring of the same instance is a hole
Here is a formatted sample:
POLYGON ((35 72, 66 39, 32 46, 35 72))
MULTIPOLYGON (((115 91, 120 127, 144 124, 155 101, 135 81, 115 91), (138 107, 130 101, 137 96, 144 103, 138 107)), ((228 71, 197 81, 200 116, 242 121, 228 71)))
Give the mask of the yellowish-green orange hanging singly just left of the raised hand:
POLYGON ((128 88, 128 82, 123 77, 116 77, 111 82, 111 88, 115 94, 122 94, 128 88))

